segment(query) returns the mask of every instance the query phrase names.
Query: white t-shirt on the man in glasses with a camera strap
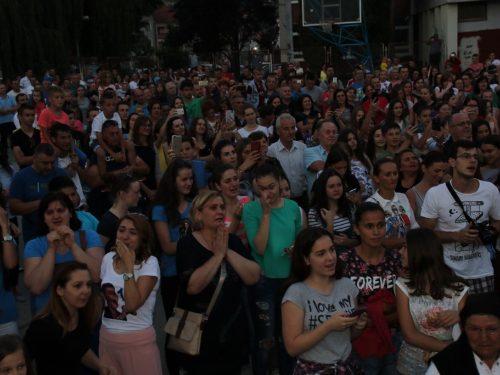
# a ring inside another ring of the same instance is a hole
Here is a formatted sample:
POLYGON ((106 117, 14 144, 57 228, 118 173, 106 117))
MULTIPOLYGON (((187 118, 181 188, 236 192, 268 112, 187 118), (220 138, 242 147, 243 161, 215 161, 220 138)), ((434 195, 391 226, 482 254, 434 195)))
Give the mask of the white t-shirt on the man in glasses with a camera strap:
MULTIPOLYGON (((499 220, 498 189, 490 182, 478 181, 479 188, 475 193, 463 194, 457 191, 467 214, 478 223, 489 220, 489 217, 499 220)), ((469 225, 446 184, 433 187, 427 192, 420 215, 428 219, 437 219, 436 230, 443 232, 460 232, 469 225)), ((478 279, 493 275, 490 254, 483 245, 462 246, 458 242, 449 242, 444 243, 443 248, 446 264, 458 276, 464 279, 478 279)))

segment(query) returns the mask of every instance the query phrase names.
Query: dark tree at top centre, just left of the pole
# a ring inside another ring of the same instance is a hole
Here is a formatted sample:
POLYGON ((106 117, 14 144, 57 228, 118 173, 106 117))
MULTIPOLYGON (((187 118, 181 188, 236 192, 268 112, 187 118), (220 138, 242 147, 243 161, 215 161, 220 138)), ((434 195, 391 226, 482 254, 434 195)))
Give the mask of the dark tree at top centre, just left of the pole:
POLYGON ((276 0, 179 0, 177 42, 195 53, 222 52, 239 77, 240 53, 252 40, 272 49, 277 39, 276 0))

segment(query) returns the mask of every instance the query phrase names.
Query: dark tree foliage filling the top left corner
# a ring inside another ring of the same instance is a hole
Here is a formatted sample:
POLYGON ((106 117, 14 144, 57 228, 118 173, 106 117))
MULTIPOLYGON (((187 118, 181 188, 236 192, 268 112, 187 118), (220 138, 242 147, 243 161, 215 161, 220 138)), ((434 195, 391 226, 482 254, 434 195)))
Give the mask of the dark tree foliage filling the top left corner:
POLYGON ((5 0, 0 1, 0 65, 4 77, 32 68, 70 70, 77 55, 129 54, 140 35, 143 16, 161 0, 5 0), (88 16, 88 19, 84 19, 88 16))

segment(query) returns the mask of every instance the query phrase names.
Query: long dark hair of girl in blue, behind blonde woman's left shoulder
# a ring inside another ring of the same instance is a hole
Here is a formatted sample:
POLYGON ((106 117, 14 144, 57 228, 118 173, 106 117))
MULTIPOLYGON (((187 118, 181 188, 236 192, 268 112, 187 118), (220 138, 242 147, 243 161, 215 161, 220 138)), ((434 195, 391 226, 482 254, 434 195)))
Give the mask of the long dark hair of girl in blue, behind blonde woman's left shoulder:
MULTIPOLYGON (((155 195, 155 199, 151 205, 151 207, 163 206, 172 226, 179 226, 181 221, 181 214, 179 213, 179 192, 177 191, 176 180, 182 169, 189 169, 193 173, 193 186, 186 199, 192 201, 194 197, 198 195, 193 165, 188 161, 175 160, 173 163, 170 163, 163 174, 160 185, 158 186, 158 192, 161 192, 161 194, 155 195)), ((150 217, 152 216, 150 215, 150 217)))

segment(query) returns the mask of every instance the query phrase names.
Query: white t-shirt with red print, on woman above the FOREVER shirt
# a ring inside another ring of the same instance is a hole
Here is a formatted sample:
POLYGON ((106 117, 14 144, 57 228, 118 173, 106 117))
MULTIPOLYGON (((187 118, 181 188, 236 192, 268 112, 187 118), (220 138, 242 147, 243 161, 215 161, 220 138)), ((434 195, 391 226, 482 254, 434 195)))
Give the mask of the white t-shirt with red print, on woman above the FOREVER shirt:
POLYGON ((406 195, 394 192, 392 200, 384 199, 378 190, 367 202, 377 203, 385 212, 386 238, 405 238, 410 229, 419 228, 406 195))

